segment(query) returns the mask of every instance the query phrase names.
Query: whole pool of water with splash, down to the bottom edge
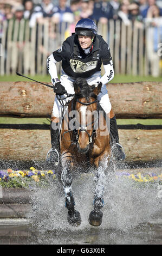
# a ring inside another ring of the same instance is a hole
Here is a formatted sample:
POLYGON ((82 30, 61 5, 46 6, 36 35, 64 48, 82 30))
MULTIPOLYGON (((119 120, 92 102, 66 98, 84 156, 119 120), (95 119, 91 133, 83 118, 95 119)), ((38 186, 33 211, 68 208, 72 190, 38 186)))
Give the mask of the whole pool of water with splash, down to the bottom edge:
MULTIPOLYGON (((160 163, 158 164, 160 166, 160 163)), ((128 165, 120 166, 121 169, 122 167, 129 168, 128 165)), ((54 184, 51 182, 46 188, 34 188, 30 198, 32 210, 27 215, 30 224, 19 225, 16 229, 18 232, 19 228, 23 235, 18 236, 19 233, 13 231, 14 227, 10 227, 12 228, 9 232, 10 236, 1 237, 0 243, 55 245, 161 243, 161 198, 158 198, 158 184, 134 182, 122 176, 117 179, 115 175, 106 175, 104 182, 105 205, 100 227, 92 227, 88 223, 89 213, 93 209, 94 174, 80 173, 74 176, 72 184, 75 208, 82 218, 79 227, 74 228, 68 224, 63 189, 56 182, 54 184)), ((1 227, 0 231, 2 231, 1 227)))

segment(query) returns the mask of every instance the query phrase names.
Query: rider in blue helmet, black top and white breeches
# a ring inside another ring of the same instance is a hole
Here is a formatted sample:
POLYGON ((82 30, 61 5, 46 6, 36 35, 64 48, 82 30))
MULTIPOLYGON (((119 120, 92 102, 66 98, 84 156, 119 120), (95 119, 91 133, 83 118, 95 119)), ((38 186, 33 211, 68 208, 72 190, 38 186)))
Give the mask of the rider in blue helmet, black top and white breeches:
MULTIPOLYGON (((85 78, 90 86, 92 84, 98 86, 99 83, 102 83, 98 101, 110 120, 113 157, 115 160, 123 160, 125 159, 125 153, 119 144, 116 118, 106 89, 106 84, 114 77, 112 57, 107 42, 96 32, 97 27, 93 20, 79 20, 75 27, 75 33, 63 42, 61 48, 48 57, 47 69, 54 86, 54 93, 58 95, 74 94, 73 82, 77 77, 85 78), (59 80, 56 63, 61 61, 62 74, 59 80), (101 77, 100 68, 102 63, 105 74, 101 77)), ((68 98, 64 102, 72 98, 68 98)), ((55 97, 50 128, 52 148, 50 153, 47 154, 47 163, 49 164, 55 163, 59 156, 59 129, 53 129, 53 124, 55 127, 59 124, 62 117, 62 108, 60 101, 55 97)))

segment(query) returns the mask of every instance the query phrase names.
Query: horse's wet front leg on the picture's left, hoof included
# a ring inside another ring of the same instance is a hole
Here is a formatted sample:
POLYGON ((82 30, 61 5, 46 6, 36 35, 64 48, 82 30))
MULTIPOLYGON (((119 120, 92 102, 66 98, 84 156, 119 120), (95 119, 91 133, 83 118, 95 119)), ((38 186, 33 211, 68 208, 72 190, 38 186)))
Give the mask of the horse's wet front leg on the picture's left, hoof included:
POLYGON ((63 153, 62 159, 62 173, 61 181, 65 193, 65 206, 68 209, 68 222, 73 226, 81 224, 81 216, 79 211, 74 208, 75 202, 72 192, 73 181, 73 161, 70 153, 63 153))

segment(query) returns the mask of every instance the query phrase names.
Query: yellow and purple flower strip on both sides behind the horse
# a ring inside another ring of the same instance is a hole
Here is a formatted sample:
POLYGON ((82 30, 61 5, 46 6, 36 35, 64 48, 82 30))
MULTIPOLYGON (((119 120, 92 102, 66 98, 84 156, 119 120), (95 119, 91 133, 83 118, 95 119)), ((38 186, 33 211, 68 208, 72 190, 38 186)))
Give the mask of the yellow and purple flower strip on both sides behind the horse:
MULTIPOLYGON (((130 174, 126 172, 116 172, 116 179, 125 178, 131 179, 135 182, 160 182, 162 181, 162 173, 157 174, 144 174, 140 172, 130 174)), ((36 186, 48 186, 50 181, 56 180, 55 170, 37 170, 30 167, 30 170, 12 170, 8 169, 7 172, 0 170, 0 186, 2 187, 25 187, 30 188, 36 186)))

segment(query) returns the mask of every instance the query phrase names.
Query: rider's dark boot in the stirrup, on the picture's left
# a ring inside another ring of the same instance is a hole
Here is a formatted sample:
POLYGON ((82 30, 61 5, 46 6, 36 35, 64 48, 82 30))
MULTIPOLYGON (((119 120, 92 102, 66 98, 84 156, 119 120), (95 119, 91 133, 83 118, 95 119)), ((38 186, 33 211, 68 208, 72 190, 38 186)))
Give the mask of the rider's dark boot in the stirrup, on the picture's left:
MULTIPOLYGON (((58 123, 55 123, 58 126, 58 123)), ((47 153, 47 163, 54 164, 57 166, 59 164, 59 151, 60 151, 60 143, 59 143, 59 129, 54 130, 52 127, 52 122, 50 125, 50 136, 51 136, 51 149, 47 153)))

